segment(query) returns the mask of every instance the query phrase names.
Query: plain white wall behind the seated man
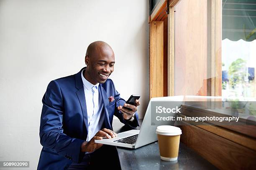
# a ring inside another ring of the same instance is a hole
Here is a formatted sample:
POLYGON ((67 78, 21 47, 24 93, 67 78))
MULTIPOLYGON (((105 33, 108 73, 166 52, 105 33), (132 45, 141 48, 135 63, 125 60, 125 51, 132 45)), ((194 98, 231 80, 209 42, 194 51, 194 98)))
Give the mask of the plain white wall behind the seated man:
POLYGON ((110 78, 126 100, 148 104, 148 0, 0 0, 0 161, 30 161, 41 150, 41 99, 51 80, 77 73, 87 46, 108 42, 110 78))

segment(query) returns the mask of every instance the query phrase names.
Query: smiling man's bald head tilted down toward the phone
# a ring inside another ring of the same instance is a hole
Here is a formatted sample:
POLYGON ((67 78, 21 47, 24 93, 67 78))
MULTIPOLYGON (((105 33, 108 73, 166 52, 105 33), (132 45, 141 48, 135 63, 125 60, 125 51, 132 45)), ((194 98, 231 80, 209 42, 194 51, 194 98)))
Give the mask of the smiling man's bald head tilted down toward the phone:
POLYGON ((85 64, 87 69, 84 77, 93 85, 104 83, 114 71, 115 55, 112 48, 105 42, 93 42, 89 45, 85 64), (95 44, 93 44, 95 43, 95 44))

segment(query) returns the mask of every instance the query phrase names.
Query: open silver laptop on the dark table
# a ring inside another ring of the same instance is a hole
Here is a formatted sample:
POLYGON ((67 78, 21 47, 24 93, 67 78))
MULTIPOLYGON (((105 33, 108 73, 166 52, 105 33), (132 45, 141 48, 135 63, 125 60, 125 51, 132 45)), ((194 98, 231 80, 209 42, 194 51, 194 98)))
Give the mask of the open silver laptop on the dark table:
MULTIPOLYGON (((180 98, 180 97, 179 97, 180 98)), ((182 96, 183 99, 183 96, 182 96)), ((141 130, 129 130, 126 132, 118 133, 118 136, 110 139, 95 140, 95 143, 101 143, 105 145, 120 146, 124 148, 139 148, 157 141, 156 128, 157 125, 151 125, 151 101, 170 101, 177 100, 170 97, 156 97, 151 98, 148 103, 148 108, 144 116, 141 130)), ((174 122, 173 122, 174 124, 174 122)))

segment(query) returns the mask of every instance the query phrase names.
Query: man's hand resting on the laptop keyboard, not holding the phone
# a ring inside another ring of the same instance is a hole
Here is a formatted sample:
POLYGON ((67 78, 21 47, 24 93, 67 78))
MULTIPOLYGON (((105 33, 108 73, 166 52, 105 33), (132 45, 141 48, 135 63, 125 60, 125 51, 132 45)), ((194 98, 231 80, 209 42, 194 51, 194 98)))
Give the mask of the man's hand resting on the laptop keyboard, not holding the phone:
POLYGON ((97 149, 99 149, 100 147, 102 147, 103 144, 100 143, 95 143, 95 140, 102 140, 102 138, 115 138, 117 136, 117 134, 115 132, 113 132, 110 129, 102 129, 99 132, 96 133, 96 135, 89 141, 85 141, 84 143, 82 143, 81 145, 81 150, 82 152, 93 152, 97 149))

